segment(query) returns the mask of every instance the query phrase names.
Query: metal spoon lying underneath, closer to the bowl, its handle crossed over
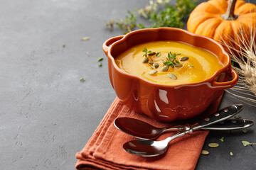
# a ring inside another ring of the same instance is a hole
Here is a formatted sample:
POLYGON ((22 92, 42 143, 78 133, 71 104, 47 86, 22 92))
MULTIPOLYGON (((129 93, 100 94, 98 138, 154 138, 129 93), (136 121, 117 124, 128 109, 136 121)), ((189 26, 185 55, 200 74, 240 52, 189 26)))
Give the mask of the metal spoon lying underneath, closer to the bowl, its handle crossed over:
MULTIPOLYGON (((249 128, 254 122, 247 119, 229 119, 222 123, 210 125, 202 128, 204 130, 240 130, 249 128)), ((117 129, 141 140, 153 140, 164 132, 176 132, 184 130, 185 126, 168 126, 164 128, 156 128, 149 123, 134 118, 117 118, 114 120, 117 129)))

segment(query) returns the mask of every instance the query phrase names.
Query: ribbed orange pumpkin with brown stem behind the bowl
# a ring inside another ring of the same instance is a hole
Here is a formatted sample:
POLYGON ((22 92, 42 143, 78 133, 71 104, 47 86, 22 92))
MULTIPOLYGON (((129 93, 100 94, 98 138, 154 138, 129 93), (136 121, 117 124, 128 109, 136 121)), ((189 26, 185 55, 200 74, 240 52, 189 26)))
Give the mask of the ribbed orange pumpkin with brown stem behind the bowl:
POLYGON ((188 18, 188 31, 239 49, 256 29, 256 6, 240 0, 210 0, 199 4, 188 18), (225 42, 224 42, 225 41, 225 42))

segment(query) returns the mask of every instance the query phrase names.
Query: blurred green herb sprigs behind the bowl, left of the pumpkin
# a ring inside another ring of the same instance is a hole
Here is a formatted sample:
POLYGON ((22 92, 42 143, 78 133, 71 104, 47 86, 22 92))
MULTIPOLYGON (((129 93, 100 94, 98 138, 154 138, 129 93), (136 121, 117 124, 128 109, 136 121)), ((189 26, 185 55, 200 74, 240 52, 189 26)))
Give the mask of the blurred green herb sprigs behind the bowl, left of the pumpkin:
POLYGON ((188 18, 189 14, 196 7, 198 0, 177 0, 176 4, 171 6, 171 0, 155 0, 149 1, 149 5, 145 8, 137 9, 137 14, 149 21, 149 26, 144 23, 137 23, 136 12, 127 11, 125 19, 116 19, 106 22, 107 28, 113 30, 114 25, 129 33, 137 28, 158 28, 158 27, 175 27, 183 28, 183 21, 188 18))

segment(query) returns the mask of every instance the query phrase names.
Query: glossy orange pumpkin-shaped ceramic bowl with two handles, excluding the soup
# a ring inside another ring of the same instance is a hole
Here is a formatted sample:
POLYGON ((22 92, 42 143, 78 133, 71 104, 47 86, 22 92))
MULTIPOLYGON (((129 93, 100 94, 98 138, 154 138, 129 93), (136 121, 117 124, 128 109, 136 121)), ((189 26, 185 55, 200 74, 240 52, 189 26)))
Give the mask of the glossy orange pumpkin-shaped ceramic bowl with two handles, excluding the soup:
POLYGON ((120 101, 137 113, 160 121, 184 120, 199 115, 221 96, 224 89, 238 82, 238 73, 232 69, 228 53, 218 42, 178 28, 135 30, 105 41, 103 50, 108 57, 110 82, 120 101), (166 85, 124 72, 115 63, 114 58, 129 47, 158 40, 185 42, 201 47, 215 54, 224 67, 204 81, 166 85))

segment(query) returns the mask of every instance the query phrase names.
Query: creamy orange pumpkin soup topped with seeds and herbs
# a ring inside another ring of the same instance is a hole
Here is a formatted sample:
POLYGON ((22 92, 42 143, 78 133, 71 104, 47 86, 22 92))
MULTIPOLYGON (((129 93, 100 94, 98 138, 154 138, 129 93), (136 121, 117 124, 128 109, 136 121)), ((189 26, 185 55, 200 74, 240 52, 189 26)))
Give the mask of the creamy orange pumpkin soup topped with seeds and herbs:
POLYGON ((136 45, 117 56, 115 62, 124 72, 171 85, 203 81, 223 67, 212 53, 174 41, 136 45))

